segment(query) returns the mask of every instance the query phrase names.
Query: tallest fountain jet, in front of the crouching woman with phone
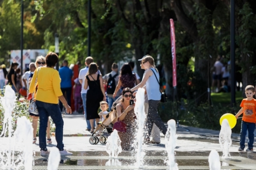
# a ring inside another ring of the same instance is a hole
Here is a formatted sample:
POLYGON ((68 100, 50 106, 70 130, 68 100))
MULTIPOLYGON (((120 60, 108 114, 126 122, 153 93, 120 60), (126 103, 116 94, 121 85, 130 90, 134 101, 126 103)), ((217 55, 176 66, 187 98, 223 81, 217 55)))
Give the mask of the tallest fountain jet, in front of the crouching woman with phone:
POLYGON ((143 165, 143 158, 145 153, 142 151, 143 145, 143 133, 145 127, 146 113, 145 113, 145 89, 139 88, 136 93, 136 104, 134 108, 135 115, 137 117, 137 134, 135 135, 135 152, 136 152, 136 166, 141 167, 143 165))

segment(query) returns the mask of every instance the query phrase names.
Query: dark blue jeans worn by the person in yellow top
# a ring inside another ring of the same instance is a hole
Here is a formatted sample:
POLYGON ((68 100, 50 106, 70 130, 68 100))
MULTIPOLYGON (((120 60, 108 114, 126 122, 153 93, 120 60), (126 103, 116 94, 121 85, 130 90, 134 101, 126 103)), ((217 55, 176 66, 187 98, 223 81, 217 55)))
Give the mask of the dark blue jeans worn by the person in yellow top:
POLYGON ((50 116, 53 119, 53 122, 56 126, 55 128, 55 139, 57 141, 57 148, 62 151, 64 150, 63 144, 63 119, 60 112, 60 107, 58 104, 45 103, 42 101, 36 101, 36 107, 39 112, 39 147, 41 150, 46 151, 46 128, 48 117, 50 116))

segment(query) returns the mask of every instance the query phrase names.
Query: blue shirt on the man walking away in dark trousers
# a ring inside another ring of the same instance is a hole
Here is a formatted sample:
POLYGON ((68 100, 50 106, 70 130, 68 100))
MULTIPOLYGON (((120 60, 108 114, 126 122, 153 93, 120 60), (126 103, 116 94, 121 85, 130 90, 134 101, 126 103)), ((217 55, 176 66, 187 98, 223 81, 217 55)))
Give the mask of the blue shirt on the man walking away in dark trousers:
POLYGON ((72 87, 71 78, 73 76, 73 71, 67 66, 63 66, 59 69, 59 74, 61 79, 60 88, 72 87))

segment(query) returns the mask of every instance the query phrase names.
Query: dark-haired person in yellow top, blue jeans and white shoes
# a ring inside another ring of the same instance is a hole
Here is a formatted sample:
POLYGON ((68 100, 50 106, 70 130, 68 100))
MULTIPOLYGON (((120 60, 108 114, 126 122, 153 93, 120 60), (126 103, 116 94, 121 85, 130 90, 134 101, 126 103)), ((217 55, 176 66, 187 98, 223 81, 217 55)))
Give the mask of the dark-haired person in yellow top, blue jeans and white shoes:
POLYGON ((37 79, 36 106, 39 112, 39 147, 41 155, 48 155, 49 151, 46 148, 46 128, 48 117, 50 116, 55 123, 55 138, 57 148, 60 150, 60 155, 72 155, 64 149, 63 144, 63 119, 58 105, 59 99, 64 104, 67 113, 71 114, 71 108, 65 100, 60 90, 60 75, 56 69, 53 69, 58 62, 57 54, 50 52, 46 56, 46 67, 39 67, 35 70, 34 76, 29 87, 29 93, 34 92, 34 84, 37 79))

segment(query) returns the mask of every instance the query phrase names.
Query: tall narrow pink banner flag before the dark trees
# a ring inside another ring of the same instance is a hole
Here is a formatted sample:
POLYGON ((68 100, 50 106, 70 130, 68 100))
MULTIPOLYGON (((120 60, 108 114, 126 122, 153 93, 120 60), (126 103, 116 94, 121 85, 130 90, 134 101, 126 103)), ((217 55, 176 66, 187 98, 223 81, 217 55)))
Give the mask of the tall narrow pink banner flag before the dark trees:
POLYGON ((172 84, 173 87, 177 86, 177 74, 176 74, 176 49, 175 49, 175 31, 173 19, 170 19, 170 31, 171 31, 171 56, 172 56, 172 84))

